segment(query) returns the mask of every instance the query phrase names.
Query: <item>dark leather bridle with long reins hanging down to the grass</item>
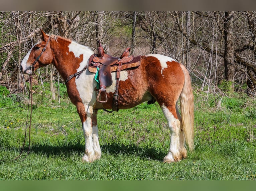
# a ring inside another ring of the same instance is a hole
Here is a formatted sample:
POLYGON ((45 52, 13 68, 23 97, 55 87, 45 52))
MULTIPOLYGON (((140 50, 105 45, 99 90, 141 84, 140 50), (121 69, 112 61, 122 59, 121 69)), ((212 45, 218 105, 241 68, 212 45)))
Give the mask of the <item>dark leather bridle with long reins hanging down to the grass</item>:
POLYGON ((22 159, 22 161, 27 157, 27 155, 29 154, 30 151, 30 132, 31 132, 31 121, 32 121, 32 103, 33 103, 33 96, 32 96, 32 80, 33 80, 33 72, 35 69, 35 64, 38 62, 38 60, 40 59, 40 57, 42 56, 42 54, 44 53, 44 51, 46 50, 46 47, 48 45, 50 41, 50 36, 48 41, 46 42, 44 48, 42 49, 40 55, 35 59, 35 61, 33 62, 33 64, 30 66, 30 69, 32 69, 32 71, 30 71, 30 85, 29 85, 29 95, 28 95, 28 108, 27 108, 27 120, 26 120, 26 127, 25 127, 25 136, 24 136, 24 141, 23 141, 23 145, 22 145, 22 149, 21 152, 19 154, 19 156, 17 156, 16 158, 14 158, 13 160, 17 160, 21 154, 24 151, 24 147, 25 147, 25 141, 26 141, 26 134, 27 134, 27 124, 28 124, 28 113, 29 113, 29 104, 30 104, 30 97, 31 97, 31 104, 30 104, 30 120, 29 120, 29 141, 28 141, 28 152, 26 154, 26 156, 22 159))

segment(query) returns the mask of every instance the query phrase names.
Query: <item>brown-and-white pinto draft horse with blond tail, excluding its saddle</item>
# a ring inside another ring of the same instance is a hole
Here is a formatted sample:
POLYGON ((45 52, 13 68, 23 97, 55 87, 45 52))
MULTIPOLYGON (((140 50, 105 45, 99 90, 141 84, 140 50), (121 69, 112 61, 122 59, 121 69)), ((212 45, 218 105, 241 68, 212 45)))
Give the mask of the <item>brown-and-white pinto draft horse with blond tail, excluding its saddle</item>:
MULTIPOLYGON (((97 111, 112 109, 116 72, 112 72, 113 84, 106 88, 108 101, 96 101, 97 82, 88 68, 94 52, 87 46, 70 39, 47 35, 40 30, 39 40, 32 46, 20 64, 23 74, 32 74, 40 67, 53 64, 65 81, 84 69, 66 84, 71 102, 76 105, 85 138, 83 162, 100 159, 97 111)), ((194 149, 194 96, 187 69, 174 59, 160 55, 141 56, 140 66, 122 70, 119 79, 118 109, 132 108, 142 102, 157 101, 170 130, 170 146, 163 162, 171 163, 187 157, 187 149, 194 149), (180 113, 178 110, 180 103, 180 113)))

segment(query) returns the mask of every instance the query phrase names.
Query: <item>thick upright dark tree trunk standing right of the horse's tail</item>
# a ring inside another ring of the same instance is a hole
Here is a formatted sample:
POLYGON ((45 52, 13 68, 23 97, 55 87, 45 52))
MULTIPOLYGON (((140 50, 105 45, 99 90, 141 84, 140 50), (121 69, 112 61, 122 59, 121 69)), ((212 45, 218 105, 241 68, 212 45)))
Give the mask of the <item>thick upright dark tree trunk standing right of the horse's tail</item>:
POLYGON ((234 41, 233 41, 234 11, 225 11, 224 18, 224 65, 226 90, 234 91, 234 41))

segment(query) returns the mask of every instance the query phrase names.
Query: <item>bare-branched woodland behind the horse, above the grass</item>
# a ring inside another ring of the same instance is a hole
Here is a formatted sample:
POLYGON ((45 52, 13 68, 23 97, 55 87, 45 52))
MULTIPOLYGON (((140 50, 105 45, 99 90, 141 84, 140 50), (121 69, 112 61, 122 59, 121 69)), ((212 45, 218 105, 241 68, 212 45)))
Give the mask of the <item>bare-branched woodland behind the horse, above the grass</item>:
MULTIPOLYGON (((27 93, 19 69, 42 28, 91 49, 100 40, 106 53, 163 54, 184 64, 193 84, 216 96, 256 94, 255 11, 1 11, 0 85, 27 93)), ((56 99, 58 72, 40 69, 35 83, 49 82, 56 99)), ((218 104, 218 102, 216 102, 218 104)))

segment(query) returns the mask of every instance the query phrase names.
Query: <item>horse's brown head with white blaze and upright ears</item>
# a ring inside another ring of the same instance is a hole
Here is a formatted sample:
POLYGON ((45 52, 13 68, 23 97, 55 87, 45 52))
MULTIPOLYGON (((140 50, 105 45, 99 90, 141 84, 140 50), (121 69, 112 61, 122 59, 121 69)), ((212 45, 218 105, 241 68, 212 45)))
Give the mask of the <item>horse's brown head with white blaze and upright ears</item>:
POLYGON ((30 49, 20 64, 20 70, 24 74, 31 74, 32 71, 51 64, 54 59, 53 51, 50 48, 50 37, 40 29, 42 36, 30 49))

